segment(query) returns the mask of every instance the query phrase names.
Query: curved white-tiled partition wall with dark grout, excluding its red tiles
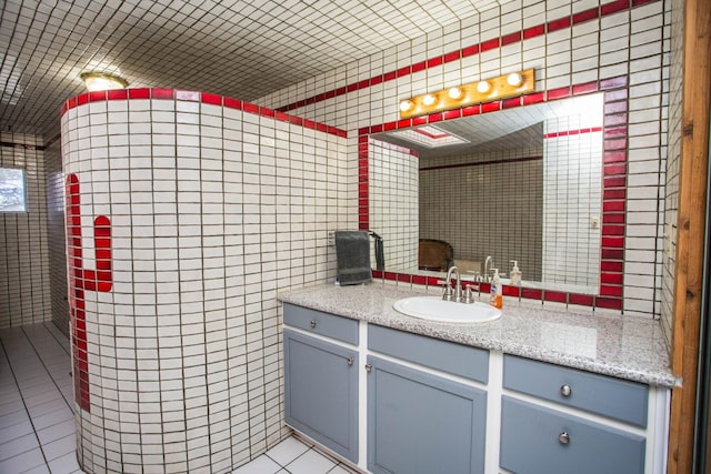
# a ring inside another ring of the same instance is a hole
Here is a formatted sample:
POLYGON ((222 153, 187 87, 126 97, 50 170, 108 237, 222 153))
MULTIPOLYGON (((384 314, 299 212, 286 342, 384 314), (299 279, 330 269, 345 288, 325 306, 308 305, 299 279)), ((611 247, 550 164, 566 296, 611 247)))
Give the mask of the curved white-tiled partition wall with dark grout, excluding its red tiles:
POLYGON ((64 113, 84 269, 92 220, 112 226, 112 289, 84 292, 86 470, 224 472, 287 434, 277 291, 336 276, 329 231, 357 228, 344 151, 333 133, 192 100, 64 113))

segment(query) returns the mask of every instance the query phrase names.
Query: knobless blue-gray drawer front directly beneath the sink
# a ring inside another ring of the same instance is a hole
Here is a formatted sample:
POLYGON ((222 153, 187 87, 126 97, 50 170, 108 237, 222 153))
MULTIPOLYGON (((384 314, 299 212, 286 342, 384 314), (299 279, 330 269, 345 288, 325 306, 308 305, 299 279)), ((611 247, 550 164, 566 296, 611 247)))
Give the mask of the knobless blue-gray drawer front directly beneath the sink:
POLYGON ((478 382, 489 381, 489 351, 368 325, 368 349, 478 382))

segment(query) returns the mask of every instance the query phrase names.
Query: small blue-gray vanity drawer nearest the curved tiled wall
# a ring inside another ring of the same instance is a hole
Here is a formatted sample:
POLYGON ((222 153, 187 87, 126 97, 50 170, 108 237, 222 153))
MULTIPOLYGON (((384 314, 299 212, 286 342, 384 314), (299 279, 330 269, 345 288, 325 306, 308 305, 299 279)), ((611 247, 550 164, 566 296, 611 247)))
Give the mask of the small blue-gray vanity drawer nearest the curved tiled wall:
POLYGON ((284 324, 358 345, 358 321, 284 303, 284 324))

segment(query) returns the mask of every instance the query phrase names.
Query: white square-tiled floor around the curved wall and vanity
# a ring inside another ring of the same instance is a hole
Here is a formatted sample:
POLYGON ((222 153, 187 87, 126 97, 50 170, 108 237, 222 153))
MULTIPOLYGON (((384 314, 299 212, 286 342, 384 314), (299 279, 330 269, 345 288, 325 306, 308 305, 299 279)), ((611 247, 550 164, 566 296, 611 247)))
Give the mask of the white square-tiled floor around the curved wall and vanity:
MULTIPOLYGON (((0 330, 0 473, 82 473, 74 455, 68 339, 53 323, 0 330)), ((289 437, 233 474, 352 474, 289 437)))

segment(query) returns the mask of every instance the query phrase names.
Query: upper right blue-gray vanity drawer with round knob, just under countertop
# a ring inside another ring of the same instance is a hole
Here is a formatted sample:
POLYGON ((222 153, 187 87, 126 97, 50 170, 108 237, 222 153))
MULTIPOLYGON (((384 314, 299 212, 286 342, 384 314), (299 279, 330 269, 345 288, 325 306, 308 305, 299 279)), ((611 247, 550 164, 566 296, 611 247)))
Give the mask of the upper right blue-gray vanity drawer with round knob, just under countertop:
POLYGON ((647 426, 649 387, 641 383, 504 355, 503 386, 637 426, 647 426))

